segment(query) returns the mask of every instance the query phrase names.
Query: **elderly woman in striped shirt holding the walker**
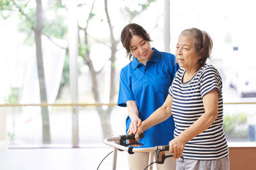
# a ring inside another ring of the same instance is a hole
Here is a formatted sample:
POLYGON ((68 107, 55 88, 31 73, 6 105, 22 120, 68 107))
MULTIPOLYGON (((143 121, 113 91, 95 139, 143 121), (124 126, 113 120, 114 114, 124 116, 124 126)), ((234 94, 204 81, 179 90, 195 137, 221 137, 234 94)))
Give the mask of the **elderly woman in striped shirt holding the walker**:
POLYGON ((185 29, 176 47, 179 70, 163 106, 142 122, 138 135, 173 115, 175 139, 169 151, 176 169, 230 169, 228 145, 222 119, 222 79, 206 64, 212 51, 210 35, 200 29, 185 29))

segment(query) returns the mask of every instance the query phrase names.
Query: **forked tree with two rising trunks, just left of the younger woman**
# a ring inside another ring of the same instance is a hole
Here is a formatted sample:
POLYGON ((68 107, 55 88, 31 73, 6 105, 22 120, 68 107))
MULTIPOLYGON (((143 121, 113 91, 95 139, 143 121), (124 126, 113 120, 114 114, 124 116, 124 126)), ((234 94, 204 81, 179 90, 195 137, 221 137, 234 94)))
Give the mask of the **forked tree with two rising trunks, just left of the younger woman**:
MULTIPOLYGON (((128 23, 130 23, 132 21, 132 19, 134 19, 138 14, 140 14, 142 11, 146 10, 150 4, 153 2, 154 0, 148 0, 146 1, 146 3, 140 4, 138 3, 138 6, 141 6, 140 11, 136 11, 136 10, 131 10, 128 7, 125 7, 124 9, 120 9, 121 11, 125 11, 125 15, 128 15, 128 23)), ((90 21, 93 19, 93 17, 95 17, 95 13, 93 13, 93 7, 94 7, 94 2, 91 5, 91 10, 89 12, 88 18, 86 20, 86 26, 85 27, 81 27, 81 25, 79 26, 79 30, 80 32, 83 32, 83 35, 80 35, 80 38, 84 38, 84 41, 81 40, 79 41, 79 56, 81 56, 85 62, 85 64, 89 67, 89 72, 91 74, 91 80, 92 80, 92 92, 93 92, 93 98, 95 100, 96 103, 100 103, 101 102, 101 97, 100 97, 100 93, 99 93, 99 83, 97 80, 97 76, 99 75, 99 73, 103 70, 103 67, 99 70, 96 71, 95 70, 95 66, 93 66, 93 62, 91 60, 91 55, 90 55, 90 47, 91 44, 93 43, 101 43, 101 44, 105 44, 105 46, 108 46, 108 43, 110 42, 110 50, 111 50, 111 54, 109 56, 109 60, 111 62, 110 64, 110 97, 109 97, 109 102, 114 102, 114 96, 116 94, 116 84, 115 84, 115 72, 116 72, 116 52, 118 51, 117 46, 118 46, 118 42, 120 41, 120 39, 115 39, 114 37, 114 25, 112 23, 111 20, 111 16, 109 14, 109 7, 108 7, 108 0, 104 0, 104 10, 105 10, 105 17, 106 17, 106 22, 108 23, 108 28, 110 31, 110 39, 107 43, 105 43, 102 40, 99 39, 93 39, 93 38, 89 38, 91 37, 87 31, 88 27, 90 26, 90 21)), ((79 7, 83 7, 83 5, 79 5, 79 7)), ((101 19, 102 21, 103 19, 101 19)), ((99 114, 99 118, 101 120, 101 128, 103 131, 103 138, 105 139, 106 137, 111 137, 112 136, 112 129, 111 129, 111 125, 110 125, 110 114, 113 110, 113 106, 108 106, 108 108, 103 108, 101 106, 97 106, 96 110, 99 114)))

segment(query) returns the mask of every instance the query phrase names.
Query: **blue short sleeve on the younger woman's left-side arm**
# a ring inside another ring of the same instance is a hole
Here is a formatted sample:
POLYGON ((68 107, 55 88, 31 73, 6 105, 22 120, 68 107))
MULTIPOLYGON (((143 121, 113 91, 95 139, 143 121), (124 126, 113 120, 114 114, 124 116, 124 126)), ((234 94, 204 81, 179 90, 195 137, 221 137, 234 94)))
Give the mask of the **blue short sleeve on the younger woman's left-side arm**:
POLYGON ((129 80, 128 74, 124 72, 124 70, 121 70, 118 106, 126 107, 126 101, 128 100, 134 100, 134 94, 132 93, 132 84, 129 80))

